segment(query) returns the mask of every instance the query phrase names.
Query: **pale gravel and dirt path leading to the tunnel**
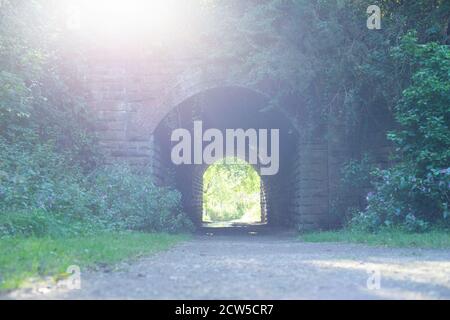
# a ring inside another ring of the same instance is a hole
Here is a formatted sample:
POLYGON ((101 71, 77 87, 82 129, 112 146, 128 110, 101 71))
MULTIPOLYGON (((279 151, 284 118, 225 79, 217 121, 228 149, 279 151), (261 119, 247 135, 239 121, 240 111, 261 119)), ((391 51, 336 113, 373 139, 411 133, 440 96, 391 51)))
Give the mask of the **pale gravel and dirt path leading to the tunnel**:
POLYGON ((81 290, 40 292, 10 298, 450 299, 450 250, 199 236, 119 270, 83 273, 81 290))

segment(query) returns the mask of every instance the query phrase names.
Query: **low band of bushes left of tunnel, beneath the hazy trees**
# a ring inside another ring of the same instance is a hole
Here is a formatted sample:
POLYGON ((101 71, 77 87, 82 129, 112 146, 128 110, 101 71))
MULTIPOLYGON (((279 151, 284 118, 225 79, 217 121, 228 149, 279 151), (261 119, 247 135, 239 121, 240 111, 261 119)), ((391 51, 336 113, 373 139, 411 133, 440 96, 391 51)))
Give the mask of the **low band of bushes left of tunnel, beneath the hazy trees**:
POLYGON ((0 236, 192 229, 180 193, 155 186, 145 170, 108 166, 86 176, 50 144, 0 140, 0 150, 0 236))

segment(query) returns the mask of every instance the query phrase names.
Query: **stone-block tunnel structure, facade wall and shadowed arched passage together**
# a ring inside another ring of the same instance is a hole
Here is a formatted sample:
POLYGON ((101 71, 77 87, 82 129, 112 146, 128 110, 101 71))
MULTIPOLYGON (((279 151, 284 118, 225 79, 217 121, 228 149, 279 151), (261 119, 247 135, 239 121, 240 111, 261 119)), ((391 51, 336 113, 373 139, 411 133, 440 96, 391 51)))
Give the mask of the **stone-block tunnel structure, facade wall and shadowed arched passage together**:
POLYGON ((226 68, 210 73, 201 61, 162 59, 156 53, 115 56, 102 51, 89 56, 85 85, 98 115, 96 131, 107 163, 150 166, 158 183, 182 193, 184 211, 197 226, 207 166, 174 165, 170 135, 177 128, 192 130, 200 120, 205 129, 279 129, 279 172, 261 177, 264 221, 305 230, 333 224, 338 168, 347 152, 339 128, 301 135, 301 122, 289 105, 272 108, 269 101, 275 93, 246 79, 227 80, 226 68))

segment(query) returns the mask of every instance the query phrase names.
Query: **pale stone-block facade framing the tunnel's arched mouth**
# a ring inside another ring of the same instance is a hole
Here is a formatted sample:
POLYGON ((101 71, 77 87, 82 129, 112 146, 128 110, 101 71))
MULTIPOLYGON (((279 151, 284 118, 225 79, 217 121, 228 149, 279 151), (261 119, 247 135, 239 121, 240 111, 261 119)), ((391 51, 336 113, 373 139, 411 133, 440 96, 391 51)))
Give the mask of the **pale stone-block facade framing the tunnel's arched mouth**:
MULTIPOLYGON (((269 90, 248 85, 246 81, 229 81, 227 76, 183 72, 175 76, 155 77, 155 69, 152 68, 124 66, 123 71, 116 73, 111 72, 107 65, 101 66, 105 70, 104 75, 103 72, 94 73, 95 81, 92 80, 90 85, 92 105, 98 112, 97 132, 107 163, 127 161, 136 166, 150 165, 155 176, 164 175, 161 174, 164 159, 161 143, 156 136, 157 128, 184 102, 217 90, 242 90, 266 102, 270 97, 269 90), (154 79, 154 82, 148 82, 148 78, 154 79), (140 83, 145 84, 145 92, 142 92, 143 84, 140 83)), ((117 63, 112 62, 112 66, 117 67, 117 63)), ((223 74, 226 75, 226 72, 223 74)), ((322 226, 327 223, 330 207, 329 168, 335 166, 328 142, 324 139, 302 140, 297 136, 299 130, 295 117, 284 108, 277 108, 277 112, 285 120, 283 125, 294 131, 294 138, 289 142, 292 163, 288 163, 288 174, 277 179, 268 178, 265 184, 268 220, 271 223, 278 221, 274 213, 279 212, 292 216, 292 219, 295 217, 295 222, 305 228, 322 226)), ((190 183, 181 191, 190 200, 194 172, 185 170, 183 174, 182 178, 190 183)), ((194 205, 189 202, 185 207, 189 211, 194 209, 194 205)), ((293 225, 293 221, 284 223, 293 225)))

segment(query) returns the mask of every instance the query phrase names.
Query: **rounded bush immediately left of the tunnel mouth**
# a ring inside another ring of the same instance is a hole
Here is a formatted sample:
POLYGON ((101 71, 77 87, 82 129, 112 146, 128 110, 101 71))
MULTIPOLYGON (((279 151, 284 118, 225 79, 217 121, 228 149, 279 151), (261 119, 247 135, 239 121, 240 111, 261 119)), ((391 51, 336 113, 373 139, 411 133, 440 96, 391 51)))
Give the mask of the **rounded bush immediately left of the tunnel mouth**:
POLYGON ((89 180, 96 216, 109 226, 167 232, 192 227, 181 211, 181 194, 155 186, 147 170, 116 165, 97 170, 89 180))

